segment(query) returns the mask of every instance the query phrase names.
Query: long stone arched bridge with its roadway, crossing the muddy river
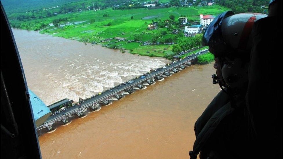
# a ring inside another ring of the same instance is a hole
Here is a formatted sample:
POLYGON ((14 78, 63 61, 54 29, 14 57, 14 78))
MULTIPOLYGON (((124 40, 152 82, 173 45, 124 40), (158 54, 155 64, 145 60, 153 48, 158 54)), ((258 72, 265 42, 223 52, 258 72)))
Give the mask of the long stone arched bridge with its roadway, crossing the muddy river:
POLYGON ((170 76, 171 74, 176 73, 179 70, 183 70, 186 68, 186 65, 191 65, 191 61, 193 59, 207 52, 208 51, 204 51, 202 53, 192 54, 192 56, 189 55, 186 58, 179 59, 170 64, 167 64, 166 68, 160 67, 144 75, 141 75, 145 76, 144 78, 140 78, 141 76, 138 76, 132 79, 133 83, 121 83, 120 85, 100 92, 95 96, 80 100, 79 103, 66 108, 64 112, 51 115, 42 125, 37 127, 37 130, 47 128, 48 131, 51 131, 53 130, 52 125, 55 122, 61 121, 63 124, 66 124, 68 123, 68 118, 73 114, 77 114, 77 116, 83 117, 85 116, 84 112, 86 112, 88 108, 91 111, 95 111, 100 108, 101 104, 108 105, 111 100, 113 100, 113 98, 116 98, 117 100, 121 99, 125 92, 131 94, 134 92, 134 89, 142 89, 144 85, 151 85, 155 82, 155 80, 159 81, 163 77, 170 76))

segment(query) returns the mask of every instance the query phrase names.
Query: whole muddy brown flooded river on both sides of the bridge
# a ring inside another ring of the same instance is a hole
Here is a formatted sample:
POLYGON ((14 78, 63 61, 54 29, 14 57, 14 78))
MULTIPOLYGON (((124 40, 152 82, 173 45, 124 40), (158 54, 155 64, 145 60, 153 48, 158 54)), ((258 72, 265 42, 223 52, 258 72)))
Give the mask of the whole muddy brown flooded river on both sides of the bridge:
MULTIPOLYGON (((28 86, 46 103, 78 99, 168 62, 14 30, 28 86)), ((194 123, 220 91, 213 64, 165 80, 39 134, 43 158, 189 158, 194 123)))

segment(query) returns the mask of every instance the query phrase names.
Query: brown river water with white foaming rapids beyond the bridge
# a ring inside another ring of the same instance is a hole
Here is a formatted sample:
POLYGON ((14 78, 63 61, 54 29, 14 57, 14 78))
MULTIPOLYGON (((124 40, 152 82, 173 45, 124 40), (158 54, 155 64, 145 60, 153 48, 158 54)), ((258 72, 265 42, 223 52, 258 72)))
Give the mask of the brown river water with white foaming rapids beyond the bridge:
POLYGON ((90 97, 171 62, 35 31, 12 31, 28 87, 47 105, 90 97))

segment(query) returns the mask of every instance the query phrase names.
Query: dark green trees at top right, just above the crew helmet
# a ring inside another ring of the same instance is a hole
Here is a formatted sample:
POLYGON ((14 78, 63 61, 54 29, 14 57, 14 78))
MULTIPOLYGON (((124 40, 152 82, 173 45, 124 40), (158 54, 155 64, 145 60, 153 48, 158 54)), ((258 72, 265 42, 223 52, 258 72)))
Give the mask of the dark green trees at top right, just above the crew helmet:
POLYGON ((235 13, 256 12, 262 13, 265 9, 261 6, 268 6, 266 0, 215 0, 215 3, 231 8, 235 13))

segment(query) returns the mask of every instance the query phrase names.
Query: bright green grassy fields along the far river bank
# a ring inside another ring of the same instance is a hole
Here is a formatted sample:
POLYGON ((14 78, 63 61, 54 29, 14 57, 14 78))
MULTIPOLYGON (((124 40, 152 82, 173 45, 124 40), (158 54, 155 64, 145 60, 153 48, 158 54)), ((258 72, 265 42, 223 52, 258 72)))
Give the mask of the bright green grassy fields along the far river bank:
MULTIPOLYGON (((21 23, 21 29, 35 30, 41 23, 50 24, 54 19, 68 18, 66 21, 60 22, 61 27, 48 26, 40 31, 43 34, 50 34, 52 36, 64 37, 66 39, 74 39, 82 42, 97 42, 107 38, 125 38, 127 40, 133 40, 136 34, 141 36, 141 41, 149 41, 155 34, 160 34, 162 31, 166 31, 165 35, 161 35, 159 39, 170 38, 177 36, 167 31, 167 28, 158 28, 157 30, 147 30, 147 25, 153 21, 164 21, 169 19, 169 15, 175 15, 175 21, 180 16, 186 16, 188 19, 197 21, 199 14, 213 14, 217 16, 221 12, 228 10, 228 8, 213 5, 204 7, 179 7, 179 8, 160 8, 149 9, 140 8, 133 10, 112 10, 108 8, 105 10, 93 10, 75 12, 68 14, 58 14, 54 17, 36 19, 30 21, 17 21, 10 20, 11 23, 21 23), (221 8, 222 10, 218 10, 221 8), (108 14, 108 17, 104 17, 104 14, 108 14), (133 19, 131 19, 133 16, 133 19), (90 19, 95 19, 95 22, 90 23, 90 19), (75 25, 65 25, 68 22, 75 22, 75 25), (110 24, 106 26, 106 24, 110 24), (63 27, 62 27, 63 26, 63 27)), ((126 42, 118 40, 105 41, 101 44, 119 45, 118 48, 124 48, 129 50, 132 54, 140 54, 145 56, 158 56, 166 57, 173 54, 171 51, 172 45, 146 45, 139 46, 141 43, 126 42), (133 50, 133 51, 130 51, 133 50)), ((175 38, 174 42, 178 42, 178 38, 175 38)))

